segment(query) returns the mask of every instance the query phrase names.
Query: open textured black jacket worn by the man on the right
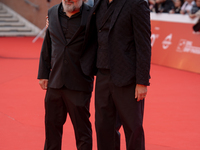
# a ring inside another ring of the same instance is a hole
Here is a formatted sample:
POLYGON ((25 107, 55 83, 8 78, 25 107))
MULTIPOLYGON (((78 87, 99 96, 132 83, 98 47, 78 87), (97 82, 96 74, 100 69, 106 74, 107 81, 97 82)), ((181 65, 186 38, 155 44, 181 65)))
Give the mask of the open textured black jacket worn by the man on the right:
MULTIPOLYGON (((96 0, 93 6, 89 17, 91 26, 95 24, 95 12, 98 11, 100 2, 101 0, 96 0)), ((97 31, 94 28, 93 30, 93 32, 97 31)), ((149 85, 150 36, 150 10, 147 2, 145 0, 118 0, 108 35, 110 71, 115 85, 125 86, 133 82, 149 85)), ((94 39, 97 38, 94 37, 94 39)))

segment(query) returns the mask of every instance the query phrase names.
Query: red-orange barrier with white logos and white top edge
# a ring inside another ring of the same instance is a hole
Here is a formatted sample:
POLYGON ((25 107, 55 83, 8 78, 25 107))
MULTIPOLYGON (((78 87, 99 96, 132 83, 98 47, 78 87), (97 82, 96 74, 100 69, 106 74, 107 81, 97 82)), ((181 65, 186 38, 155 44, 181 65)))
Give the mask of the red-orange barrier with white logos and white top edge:
POLYGON ((151 62, 200 73, 200 33, 192 29, 197 20, 188 15, 151 13, 151 62))

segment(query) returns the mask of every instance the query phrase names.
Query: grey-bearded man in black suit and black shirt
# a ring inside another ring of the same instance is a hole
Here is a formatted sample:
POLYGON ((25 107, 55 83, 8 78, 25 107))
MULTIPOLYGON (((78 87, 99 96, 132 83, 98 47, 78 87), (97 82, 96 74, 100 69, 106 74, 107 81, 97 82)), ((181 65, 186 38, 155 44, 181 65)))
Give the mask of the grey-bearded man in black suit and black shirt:
MULTIPOLYGON (((93 89, 93 52, 87 43, 90 7, 84 0, 62 0, 48 11, 38 79, 45 96, 44 150, 61 150, 67 114, 74 127, 78 150, 92 149, 89 104, 93 89)), ((90 44, 92 46, 92 44, 90 44)))

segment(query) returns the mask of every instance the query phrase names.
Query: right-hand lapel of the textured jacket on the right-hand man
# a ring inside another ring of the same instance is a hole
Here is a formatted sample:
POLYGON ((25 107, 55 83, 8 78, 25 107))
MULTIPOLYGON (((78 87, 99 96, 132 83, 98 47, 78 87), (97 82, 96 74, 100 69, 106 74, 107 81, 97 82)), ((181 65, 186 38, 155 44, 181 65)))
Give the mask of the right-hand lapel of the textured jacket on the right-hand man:
POLYGON ((124 3, 126 2, 126 0, 118 0, 117 4, 115 5, 115 10, 114 10, 114 13, 112 15, 112 19, 111 19, 111 23, 110 23, 110 29, 112 29, 112 27, 114 26, 116 20, 117 20, 117 17, 122 9, 122 7, 124 6, 124 3))

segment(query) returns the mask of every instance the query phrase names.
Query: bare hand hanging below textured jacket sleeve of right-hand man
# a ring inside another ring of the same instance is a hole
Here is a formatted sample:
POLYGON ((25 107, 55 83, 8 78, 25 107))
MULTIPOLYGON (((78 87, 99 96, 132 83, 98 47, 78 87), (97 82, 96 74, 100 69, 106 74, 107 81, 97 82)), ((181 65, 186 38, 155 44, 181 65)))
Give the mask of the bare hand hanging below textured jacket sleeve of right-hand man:
POLYGON ((135 98, 137 101, 143 100, 147 95, 147 86, 142 84, 137 84, 135 87, 135 98))

